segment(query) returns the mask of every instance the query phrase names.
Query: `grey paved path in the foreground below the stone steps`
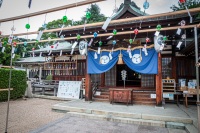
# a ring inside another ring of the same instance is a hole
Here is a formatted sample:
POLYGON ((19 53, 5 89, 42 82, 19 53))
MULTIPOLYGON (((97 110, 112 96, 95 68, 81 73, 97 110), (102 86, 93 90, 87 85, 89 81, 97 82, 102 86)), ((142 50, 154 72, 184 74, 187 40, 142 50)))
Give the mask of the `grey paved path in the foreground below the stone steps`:
POLYGON ((65 116, 30 133, 186 133, 186 131, 65 116))

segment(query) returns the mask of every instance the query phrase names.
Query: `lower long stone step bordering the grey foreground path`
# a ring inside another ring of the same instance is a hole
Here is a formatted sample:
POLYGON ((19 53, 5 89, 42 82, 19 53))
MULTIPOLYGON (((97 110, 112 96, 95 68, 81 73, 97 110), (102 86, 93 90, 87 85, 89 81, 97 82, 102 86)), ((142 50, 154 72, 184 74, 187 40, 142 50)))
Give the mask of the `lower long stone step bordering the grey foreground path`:
POLYGON ((86 114, 86 113, 77 113, 77 112, 68 112, 68 114, 70 114, 71 116, 78 116, 78 117, 90 118, 90 119, 101 119, 101 120, 112 121, 112 122, 165 127, 165 122, 163 121, 122 118, 122 117, 113 117, 110 115, 96 115, 96 114, 86 114))

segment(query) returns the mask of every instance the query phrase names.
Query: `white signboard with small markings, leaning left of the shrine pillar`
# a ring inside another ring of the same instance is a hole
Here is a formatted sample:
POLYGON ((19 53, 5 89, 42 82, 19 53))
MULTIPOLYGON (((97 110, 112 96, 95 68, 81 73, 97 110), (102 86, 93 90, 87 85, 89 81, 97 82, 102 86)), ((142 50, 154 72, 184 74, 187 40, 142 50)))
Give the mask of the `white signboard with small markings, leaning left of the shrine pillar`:
POLYGON ((59 81, 57 97, 79 99, 81 81, 59 81))

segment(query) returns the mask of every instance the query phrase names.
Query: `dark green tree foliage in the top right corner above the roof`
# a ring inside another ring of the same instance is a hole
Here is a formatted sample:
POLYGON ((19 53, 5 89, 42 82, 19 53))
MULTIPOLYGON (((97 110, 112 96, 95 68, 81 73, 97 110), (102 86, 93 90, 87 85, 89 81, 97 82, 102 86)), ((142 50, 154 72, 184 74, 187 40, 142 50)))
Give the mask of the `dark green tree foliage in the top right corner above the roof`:
MULTIPOLYGON (((185 5, 187 6, 188 9, 200 7, 200 1, 199 0, 187 0, 185 5)), ((186 9, 185 5, 178 2, 178 6, 172 5, 170 8, 173 11, 185 10, 186 9)))

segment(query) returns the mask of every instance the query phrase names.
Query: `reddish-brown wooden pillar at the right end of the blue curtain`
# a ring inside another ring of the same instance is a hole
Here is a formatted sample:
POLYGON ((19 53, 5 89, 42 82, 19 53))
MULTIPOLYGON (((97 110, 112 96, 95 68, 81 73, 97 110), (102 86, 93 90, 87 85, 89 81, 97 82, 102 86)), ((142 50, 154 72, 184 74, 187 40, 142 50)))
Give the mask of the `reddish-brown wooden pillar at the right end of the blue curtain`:
POLYGON ((158 53, 158 74, 156 75, 156 106, 162 106, 162 57, 158 53))

